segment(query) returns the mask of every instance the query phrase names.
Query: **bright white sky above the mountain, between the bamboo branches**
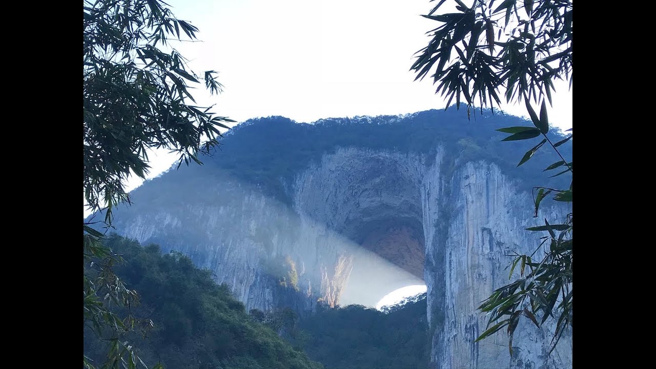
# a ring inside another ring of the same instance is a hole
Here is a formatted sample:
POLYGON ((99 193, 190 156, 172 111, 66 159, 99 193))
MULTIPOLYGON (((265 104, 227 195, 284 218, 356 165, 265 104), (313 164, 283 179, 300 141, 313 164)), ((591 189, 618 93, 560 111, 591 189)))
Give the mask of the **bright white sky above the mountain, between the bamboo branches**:
MULTIPOLYGON (((438 25, 420 16, 428 0, 170 0, 174 14, 199 28, 201 42, 174 44, 197 73, 216 70, 224 93, 199 104, 238 122, 285 116, 395 115, 444 108, 428 77, 414 81, 413 54, 438 25)), ((447 2, 448 4, 448 2, 447 2)), ((445 6, 447 5, 445 4, 445 6)), ((556 83, 549 121, 572 126, 572 95, 556 83)), ((504 106, 525 116, 525 106, 504 106)), ((152 156, 150 177, 176 159, 152 156)), ((134 179, 129 188, 140 185, 134 179)))

